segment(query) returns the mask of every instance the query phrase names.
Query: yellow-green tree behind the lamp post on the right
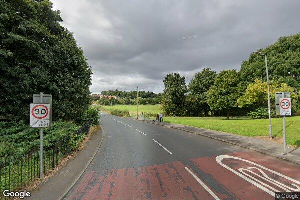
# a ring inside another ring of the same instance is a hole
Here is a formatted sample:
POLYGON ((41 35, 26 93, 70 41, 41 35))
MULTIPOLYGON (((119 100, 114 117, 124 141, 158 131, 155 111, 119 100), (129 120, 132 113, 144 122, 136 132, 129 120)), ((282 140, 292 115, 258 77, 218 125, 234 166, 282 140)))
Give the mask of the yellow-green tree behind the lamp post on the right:
MULTIPOLYGON (((277 81, 270 82, 270 100, 271 104, 275 105, 276 92, 290 92, 293 102, 296 102, 298 95, 296 89, 288 86, 286 83, 278 83, 277 81)), ((237 100, 240 108, 251 107, 252 110, 267 107, 267 82, 255 79, 253 83, 247 86, 246 91, 237 100)))

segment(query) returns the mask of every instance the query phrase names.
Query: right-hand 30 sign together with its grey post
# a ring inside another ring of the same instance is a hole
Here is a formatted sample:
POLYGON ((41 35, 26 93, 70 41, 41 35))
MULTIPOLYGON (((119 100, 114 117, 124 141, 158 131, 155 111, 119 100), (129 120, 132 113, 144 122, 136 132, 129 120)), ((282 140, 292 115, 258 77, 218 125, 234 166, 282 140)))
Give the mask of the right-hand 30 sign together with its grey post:
POLYGON ((283 148, 284 148, 284 155, 286 155, 286 129, 285 129, 286 118, 285 117, 291 116, 291 98, 289 92, 276 93, 276 113, 278 113, 278 111, 279 111, 279 115, 283 116, 283 148), (277 106, 277 101, 279 101, 279 110, 277 106))

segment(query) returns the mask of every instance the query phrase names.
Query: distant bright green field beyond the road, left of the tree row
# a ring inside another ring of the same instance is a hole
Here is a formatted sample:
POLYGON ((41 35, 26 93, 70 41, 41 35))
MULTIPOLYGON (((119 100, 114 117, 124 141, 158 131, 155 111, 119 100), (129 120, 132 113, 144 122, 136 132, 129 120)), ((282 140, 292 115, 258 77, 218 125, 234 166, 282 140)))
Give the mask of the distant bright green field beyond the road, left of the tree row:
MULTIPOLYGON (((137 113, 137 105, 104 105, 101 106, 106 110, 109 109, 120 109, 120 110, 129 110, 131 116, 136 116, 137 113)), ((159 113, 161 105, 138 105, 138 112, 141 114, 142 112, 148 112, 148 113, 159 113)))

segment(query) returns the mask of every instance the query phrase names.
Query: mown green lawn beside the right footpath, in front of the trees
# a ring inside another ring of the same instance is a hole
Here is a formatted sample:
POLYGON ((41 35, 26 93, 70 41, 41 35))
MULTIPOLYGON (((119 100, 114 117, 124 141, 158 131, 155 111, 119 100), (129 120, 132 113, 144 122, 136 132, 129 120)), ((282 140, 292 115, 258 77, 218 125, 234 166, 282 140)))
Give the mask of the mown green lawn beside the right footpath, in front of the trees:
MULTIPOLYGON (((250 137, 268 135, 268 119, 248 117, 164 117, 165 122, 189 125, 250 137)), ((273 136, 283 138, 282 118, 272 119, 273 136)), ((286 141, 300 146, 300 116, 286 117, 286 141)))

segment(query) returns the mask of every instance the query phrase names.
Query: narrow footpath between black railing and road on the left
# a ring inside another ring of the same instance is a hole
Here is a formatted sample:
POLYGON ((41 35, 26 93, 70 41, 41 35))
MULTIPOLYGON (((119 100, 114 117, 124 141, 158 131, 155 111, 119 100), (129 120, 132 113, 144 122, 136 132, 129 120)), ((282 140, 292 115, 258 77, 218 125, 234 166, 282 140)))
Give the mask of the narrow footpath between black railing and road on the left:
POLYGON ((66 161, 53 176, 43 181, 36 190, 31 192, 30 200, 56 200, 64 197, 67 191, 83 174, 94 155, 98 151, 103 140, 101 129, 91 133, 91 137, 85 143, 84 148, 73 158, 66 161))

